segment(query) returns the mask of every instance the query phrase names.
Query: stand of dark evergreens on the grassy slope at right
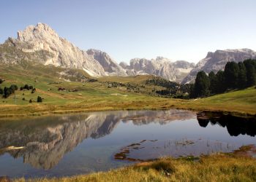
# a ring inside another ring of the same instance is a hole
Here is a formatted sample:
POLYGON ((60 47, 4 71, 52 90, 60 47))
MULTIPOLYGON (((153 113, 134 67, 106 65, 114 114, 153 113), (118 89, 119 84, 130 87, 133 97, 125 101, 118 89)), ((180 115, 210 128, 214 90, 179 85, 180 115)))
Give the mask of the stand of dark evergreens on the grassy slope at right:
POLYGON ((230 89, 244 89, 256 84, 256 60, 244 60, 236 63, 227 62, 224 71, 208 75, 199 71, 190 90, 190 98, 206 97, 230 89))

